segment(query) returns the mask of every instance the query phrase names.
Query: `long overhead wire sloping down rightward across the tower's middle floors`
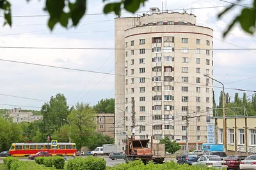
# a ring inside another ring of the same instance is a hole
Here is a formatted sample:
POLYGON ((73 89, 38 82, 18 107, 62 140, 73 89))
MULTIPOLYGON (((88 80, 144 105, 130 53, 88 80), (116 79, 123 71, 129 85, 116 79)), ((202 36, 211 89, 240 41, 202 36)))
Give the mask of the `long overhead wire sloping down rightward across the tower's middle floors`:
MULTIPOLYGON (((52 68, 58 68, 58 69, 67 69, 67 70, 72 70, 72 71, 83 71, 83 72, 88 72, 88 73, 107 74, 107 75, 113 75, 113 76, 125 76, 124 74, 106 73, 106 72, 90 71, 90 70, 84 70, 84 69, 74 69, 74 68, 70 68, 70 67, 50 66, 50 65, 45 65, 45 64, 35 64, 35 63, 31 63, 31 62, 21 62, 21 61, 16 61, 16 60, 5 60, 5 59, 0 59, 0 60, 1 61, 6 61, 6 62, 16 62, 16 63, 19 63, 19 64, 29 64, 29 65, 33 65, 33 66, 43 66, 43 67, 52 67, 52 68)), ((127 76, 127 77, 140 78, 138 76, 127 76)), ((152 78, 145 78, 145 79, 152 80, 152 78)), ((177 82, 177 81, 173 81, 173 82, 183 83, 183 82, 177 82)), ((198 84, 198 83, 186 83, 186 84, 205 87, 205 85, 201 85, 201 84, 198 84)), ((221 88, 222 89, 222 87, 210 86, 210 85, 208 85, 207 87, 216 87, 216 88, 221 88)), ((246 91, 246 92, 256 92, 256 90, 244 90, 244 89, 235 89, 235 88, 228 88, 228 87, 225 87, 225 89, 239 90, 239 91, 246 91)))

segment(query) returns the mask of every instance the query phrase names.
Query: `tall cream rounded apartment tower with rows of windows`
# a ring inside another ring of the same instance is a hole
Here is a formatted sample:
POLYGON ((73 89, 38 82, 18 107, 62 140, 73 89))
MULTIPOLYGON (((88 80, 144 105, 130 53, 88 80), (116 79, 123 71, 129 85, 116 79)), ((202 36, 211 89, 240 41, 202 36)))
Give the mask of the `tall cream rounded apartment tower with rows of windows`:
MULTIPOLYGON (((135 138, 164 136, 186 143, 205 143, 206 117, 212 115, 213 74, 210 28, 196 25, 188 13, 160 13, 115 18, 115 142, 124 147, 135 138), (189 120, 187 128, 186 118, 189 120)), ((184 146, 182 146, 184 149, 184 146)))

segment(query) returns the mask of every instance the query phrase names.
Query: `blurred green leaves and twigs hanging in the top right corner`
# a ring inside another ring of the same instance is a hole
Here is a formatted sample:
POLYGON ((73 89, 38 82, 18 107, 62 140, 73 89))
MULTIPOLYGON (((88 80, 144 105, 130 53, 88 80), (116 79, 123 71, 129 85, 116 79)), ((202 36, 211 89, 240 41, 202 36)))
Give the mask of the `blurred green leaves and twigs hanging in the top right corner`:
MULTIPOLYGON (((239 3, 240 0, 237 0, 237 3, 239 3)), ((225 13, 230 11, 236 6, 236 4, 231 4, 228 6, 225 10, 223 10, 218 17, 221 18, 225 13)), ((223 36, 227 36, 228 32, 234 27, 234 25, 239 22, 241 25, 241 28, 248 32, 249 34, 253 34, 255 32, 256 28, 256 0, 254 0, 253 6, 246 7, 244 6, 243 10, 241 10, 241 13, 239 13, 236 17, 234 17, 233 21, 228 25, 227 30, 223 33, 223 36)))

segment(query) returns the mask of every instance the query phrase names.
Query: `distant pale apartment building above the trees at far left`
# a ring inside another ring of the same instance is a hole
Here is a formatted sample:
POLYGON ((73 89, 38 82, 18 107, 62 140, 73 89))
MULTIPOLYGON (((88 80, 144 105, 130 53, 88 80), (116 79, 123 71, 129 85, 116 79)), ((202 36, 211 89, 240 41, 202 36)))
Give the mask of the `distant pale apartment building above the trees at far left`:
POLYGON ((42 118, 41 115, 34 115, 33 112, 22 112, 20 108, 6 111, 6 115, 3 115, 3 117, 12 118, 15 123, 33 122, 42 118))

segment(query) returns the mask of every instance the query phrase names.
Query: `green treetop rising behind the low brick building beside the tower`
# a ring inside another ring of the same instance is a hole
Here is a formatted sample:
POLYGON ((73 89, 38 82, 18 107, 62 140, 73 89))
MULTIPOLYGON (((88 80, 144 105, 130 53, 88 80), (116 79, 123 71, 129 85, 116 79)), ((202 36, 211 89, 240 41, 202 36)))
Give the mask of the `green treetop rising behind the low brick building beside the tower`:
POLYGON ((115 99, 101 99, 93 108, 97 113, 115 113, 115 99))

